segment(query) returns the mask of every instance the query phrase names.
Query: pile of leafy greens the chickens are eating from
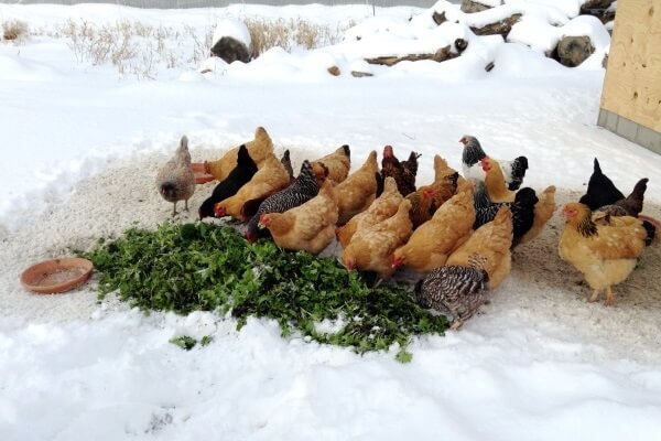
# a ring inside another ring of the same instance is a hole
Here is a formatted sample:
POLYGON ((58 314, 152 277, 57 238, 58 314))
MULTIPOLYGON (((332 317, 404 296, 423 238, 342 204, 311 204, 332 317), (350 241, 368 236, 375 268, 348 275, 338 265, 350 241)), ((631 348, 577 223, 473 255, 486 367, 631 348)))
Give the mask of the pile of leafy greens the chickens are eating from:
POLYGON ((228 226, 132 228, 99 240, 85 257, 100 273, 101 297, 118 290, 143 310, 230 311, 239 329, 250 315, 274 319, 283 336, 299 332, 358 353, 399 343, 401 362, 411 359, 405 348, 413 335, 447 329, 444 316, 419 308, 408 290, 369 288, 336 259, 285 251, 271 240, 250 245, 228 226), (337 321, 338 330, 318 331, 324 320, 337 321))

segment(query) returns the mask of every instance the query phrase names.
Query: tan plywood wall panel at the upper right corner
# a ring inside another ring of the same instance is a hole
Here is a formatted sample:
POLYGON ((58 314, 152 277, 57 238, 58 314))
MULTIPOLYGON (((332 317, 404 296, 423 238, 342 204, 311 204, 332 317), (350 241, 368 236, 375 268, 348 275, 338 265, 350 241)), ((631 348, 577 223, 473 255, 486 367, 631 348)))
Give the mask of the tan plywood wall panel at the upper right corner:
POLYGON ((661 0, 618 2, 602 107, 661 131, 661 0))

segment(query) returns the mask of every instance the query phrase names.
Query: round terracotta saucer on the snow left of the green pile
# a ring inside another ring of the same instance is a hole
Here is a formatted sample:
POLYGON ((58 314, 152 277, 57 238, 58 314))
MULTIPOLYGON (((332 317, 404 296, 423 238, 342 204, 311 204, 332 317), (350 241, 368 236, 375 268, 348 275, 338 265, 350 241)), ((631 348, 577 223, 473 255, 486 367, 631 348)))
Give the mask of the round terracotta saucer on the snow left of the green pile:
POLYGON ((40 294, 73 290, 85 283, 94 266, 87 259, 64 257, 33 265, 21 275, 21 284, 40 294))

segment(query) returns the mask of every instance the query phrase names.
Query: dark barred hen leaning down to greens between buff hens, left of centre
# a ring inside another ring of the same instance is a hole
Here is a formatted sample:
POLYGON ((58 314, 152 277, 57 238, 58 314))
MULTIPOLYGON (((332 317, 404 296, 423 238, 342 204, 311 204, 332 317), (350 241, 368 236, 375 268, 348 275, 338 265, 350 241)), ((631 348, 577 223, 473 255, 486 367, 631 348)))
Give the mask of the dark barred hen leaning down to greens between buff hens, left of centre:
MULTIPOLYGON (((325 170, 327 173, 327 169, 325 170)), ((267 197, 257 209, 257 213, 248 222, 246 238, 254 241, 259 237, 268 235, 268 229, 259 228, 259 218, 266 213, 284 213, 288 209, 304 204, 319 193, 317 175, 310 161, 303 161, 301 173, 290 186, 267 197)))

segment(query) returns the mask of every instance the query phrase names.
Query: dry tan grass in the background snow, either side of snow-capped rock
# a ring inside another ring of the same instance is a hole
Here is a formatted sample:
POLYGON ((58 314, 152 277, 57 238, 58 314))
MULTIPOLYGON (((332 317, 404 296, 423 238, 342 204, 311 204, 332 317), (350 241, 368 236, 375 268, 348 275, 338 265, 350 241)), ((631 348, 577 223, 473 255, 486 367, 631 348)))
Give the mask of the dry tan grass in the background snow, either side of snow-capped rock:
MULTIPOLYGON (((271 47, 288 52, 296 47, 316 49, 337 43, 344 30, 313 24, 304 20, 245 19, 252 39, 252 55, 259 56, 271 47)), ((95 66, 111 64, 117 72, 138 78, 155 78, 159 67, 199 66, 214 43, 214 26, 152 26, 139 21, 122 20, 95 24, 87 20, 67 20, 51 29, 30 30, 22 21, 3 22, 3 39, 20 40, 30 32, 66 39, 78 63, 95 66)))

